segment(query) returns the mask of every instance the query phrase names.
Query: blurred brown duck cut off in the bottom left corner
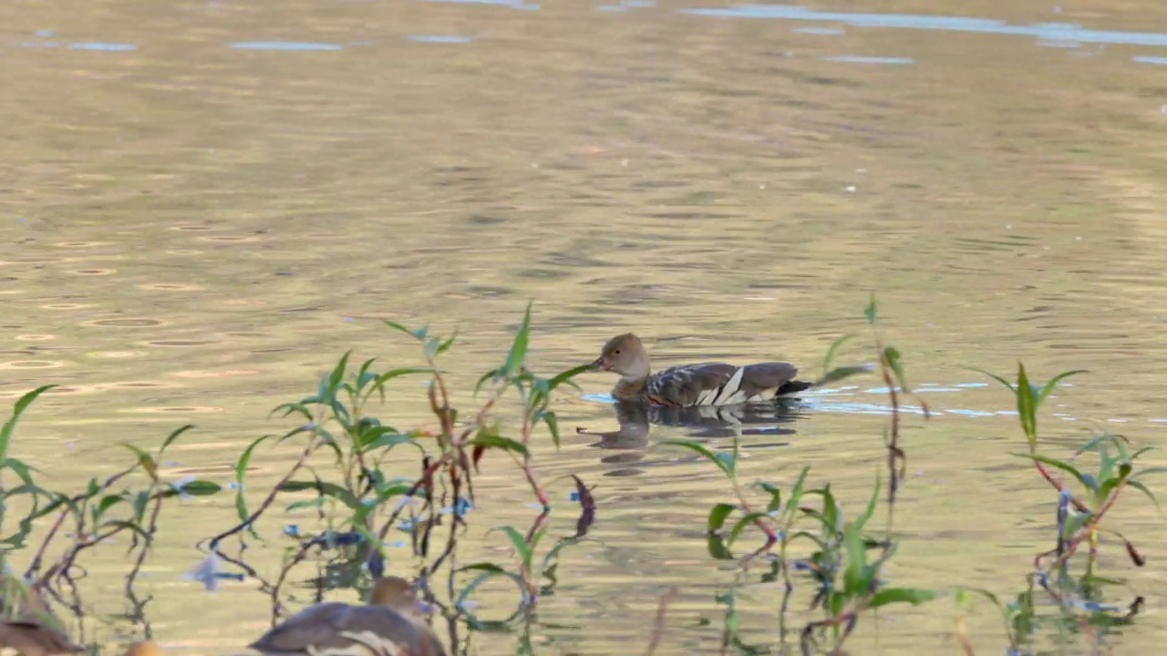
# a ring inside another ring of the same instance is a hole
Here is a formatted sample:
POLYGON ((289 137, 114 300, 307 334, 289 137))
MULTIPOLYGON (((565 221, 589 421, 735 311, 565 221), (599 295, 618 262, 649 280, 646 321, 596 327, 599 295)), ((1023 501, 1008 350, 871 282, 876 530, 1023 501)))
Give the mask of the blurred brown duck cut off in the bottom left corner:
POLYGON ((0 648, 13 649, 22 656, 85 650, 64 631, 41 593, 11 574, 0 574, 0 648))

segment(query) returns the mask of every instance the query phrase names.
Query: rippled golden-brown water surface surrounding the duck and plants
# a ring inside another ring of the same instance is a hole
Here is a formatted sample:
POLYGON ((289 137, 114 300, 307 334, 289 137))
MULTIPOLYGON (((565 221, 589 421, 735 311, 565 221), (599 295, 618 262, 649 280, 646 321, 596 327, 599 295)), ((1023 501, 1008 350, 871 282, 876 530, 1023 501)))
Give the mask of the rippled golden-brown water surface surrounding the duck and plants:
MULTIPOLYGON (((1167 9, 928 12, 903 1, 5 6, 0 393, 11 403, 63 385, 22 420, 14 448, 53 484, 79 486, 127 456, 118 442, 155 445, 194 423, 165 474, 225 483, 245 444, 287 428, 268 410, 313 390, 344 350, 419 361, 379 319, 460 326, 447 365, 470 403, 527 299, 541 371, 635 330, 661 364, 784 358, 813 375, 834 337, 864 329, 876 291, 885 336, 936 411, 927 425, 906 420, 910 476, 889 575, 1013 596, 1050 546, 1054 497, 1009 455, 1023 448, 1012 399, 966 367, 1007 372, 1023 358, 1041 379, 1090 370, 1044 411, 1051 455, 1089 427, 1147 445, 1167 428, 1167 77, 1154 65, 1167 9)), ((544 440, 538 462, 559 498, 572 489, 560 475, 596 484, 599 519, 565 552, 534 644, 641 652, 657 596, 680 584, 661 652, 713 652, 714 595, 733 572, 710 560, 703 531, 729 490, 707 463, 655 445, 686 434, 724 445, 725 431, 617 431, 613 381, 580 382, 585 395, 557 400, 562 451, 544 440)), ((789 483, 811 465, 858 507, 882 467, 880 388, 836 385, 794 417, 763 418, 743 438, 743 480, 789 483)), ((419 382, 393 391, 386 420, 431 421, 419 382)), ((259 452, 252 481, 273 483, 293 456, 259 452)), ((504 461, 477 484, 468 539, 506 558, 485 530, 531 521, 525 486, 504 461)), ((1132 572, 1114 556, 1104 567, 1128 575, 1148 610, 1107 640, 1141 652, 1167 635, 1163 522, 1128 501, 1116 521, 1149 564, 1132 572)), ((251 582, 208 595, 177 578, 197 560, 194 542, 233 512, 215 497, 163 519, 148 613, 179 652, 236 652, 266 626, 251 582)), ((254 557, 277 566, 279 522, 308 521, 270 518, 254 557)), ((552 528, 569 533, 573 522, 552 528)), ((91 577, 116 582, 93 584, 89 630, 112 643, 132 630, 111 619, 124 612, 113 591, 125 563, 116 546, 103 558, 91 577)), ((745 592, 743 637, 773 641, 777 589, 745 592)), ((955 613, 941 601, 867 617, 851 645, 952 651, 955 613)), ((978 650, 999 652, 987 603, 970 628, 978 650)), ((511 652, 515 640, 477 635, 474 649, 511 652)))

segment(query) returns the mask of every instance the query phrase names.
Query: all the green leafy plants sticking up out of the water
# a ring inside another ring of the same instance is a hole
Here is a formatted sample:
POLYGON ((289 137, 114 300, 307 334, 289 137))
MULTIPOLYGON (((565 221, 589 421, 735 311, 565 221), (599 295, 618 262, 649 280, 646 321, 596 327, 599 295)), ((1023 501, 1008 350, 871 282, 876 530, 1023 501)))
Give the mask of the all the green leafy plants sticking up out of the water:
MULTIPOLYGON (((1053 487, 1050 507, 1056 508, 1048 521, 1042 519, 1051 547, 1032 556, 1022 581, 1002 584, 1018 592, 1002 595, 965 587, 960 572, 951 572, 949 580, 929 588, 890 582, 886 568, 903 540, 894 518, 910 447, 901 434, 904 404, 917 404, 911 406, 913 416, 924 420, 929 409, 913 393, 900 351, 886 344, 879 332, 874 298, 865 316, 878 357, 874 371, 882 377, 890 407, 882 435, 885 473, 872 481, 866 504, 844 508, 837 489, 819 480, 811 467, 803 467, 784 486, 743 480, 740 435, 721 446, 670 440, 652 447, 696 453, 725 476, 725 498, 700 519, 711 567, 724 571, 728 563, 735 572, 734 584, 714 599, 721 617, 719 651, 841 654, 844 642, 873 619, 876 609, 917 606, 942 596, 956 601, 952 637, 966 654, 973 654, 973 645, 965 616, 977 599, 987 600, 1000 612, 1004 643, 1016 654, 1032 651, 1035 642, 1048 635, 1084 635, 1099 642, 1110 627, 1133 621, 1144 598, 1134 594, 1113 600, 1109 591, 1126 584, 1109 572, 1100 573, 1099 558, 1120 546, 1130 563, 1144 564, 1140 551, 1119 532, 1110 515, 1120 498, 1131 496, 1130 490, 1154 502, 1142 477, 1161 468, 1140 468, 1139 459, 1148 449, 1113 434, 1092 437, 1067 459, 1039 453, 1042 402, 1061 381, 1081 371, 1054 376, 1041 385, 1030 382, 1022 364, 1012 382, 985 372, 1014 395, 1028 447, 1016 455, 1053 487), (1093 459, 1090 470, 1083 465, 1085 458, 1093 459), (773 643, 745 641, 736 601, 747 586, 755 599, 773 594, 769 607, 777 627, 773 643)), ((7 616, 18 617, 22 612, 14 602, 22 596, 14 594, 12 585, 55 600, 77 617, 85 616, 85 561, 99 547, 118 549, 109 543, 120 535, 127 538, 121 544, 128 540, 125 616, 138 627, 135 633, 152 637, 148 610, 153 598, 142 596, 139 574, 153 552, 160 517, 175 501, 219 495, 233 501, 235 514, 215 510, 224 514, 223 530, 197 543, 202 554, 191 559, 198 564, 189 578, 208 589, 215 589, 222 579, 244 581, 270 605, 273 623, 305 603, 298 592, 312 589, 312 601, 334 589, 364 593, 384 573, 408 570, 435 609, 434 628, 453 645, 450 652, 469 650, 475 633, 482 630, 515 631, 518 652, 538 651, 531 637, 538 627, 534 610, 540 600, 557 593, 559 560, 587 539, 598 508, 593 488, 579 476, 548 481, 540 475, 532 444, 550 440, 558 448, 560 427, 552 402, 565 388, 575 388, 573 378, 588 365, 550 377, 531 371, 526 365, 529 306, 505 358, 478 378, 473 390, 475 405, 466 410, 455 405, 455 392, 439 365, 456 335, 434 335, 426 328, 393 322, 387 326, 417 341, 419 364, 380 369, 376 360, 358 363, 352 354, 344 354, 313 393, 273 411, 291 427, 246 445, 235 463, 235 481, 225 487, 197 479, 169 481, 160 475, 167 448, 191 426, 172 432, 155 451, 126 444, 130 463, 104 480, 89 481, 79 491, 43 487, 40 473, 13 455, 13 439, 18 420, 53 386, 22 396, 0 428, 0 558, 6 572, 22 573, 6 579, 7 616), (384 406, 391 382, 404 377, 427 381, 431 426, 399 428, 375 414, 384 406), (515 412, 506 417, 517 416, 517 420, 499 419, 503 404, 515 405, 515 412), (279 445, 294 445, 296 454, 291 459, 272 455, 271 460, 284 462, 286 469, 270 489, 253 488, 249 481, 252 462, 268 458, 265 448, 279 445), (471 540, 485 535, 488 542, 508 546, 512 557, 463 563, 474 509, 491 503, 475 488, 484 459, 512 461, 515 479, 530 490, 537 514, 529 526, 475 525, 471 540), (555 494, 548 493, 548 486, 557 487, 555 494), (564 497, 569 502, 552 503, 564 497), (278 525, 279 519, 296 512, 310 514, 313 525, 278 525), (573 530, 553 530, 547 521, 552 512, 567 514, 573 530), (401 557, 401 550, 386 549, 400 536, 408 557, 401 557), (270 571, 249 560, 249 549, 278 540, 291 544, 279 567, 270 571), (475 602, 482 586, 496 579, 513 587, 513 607, 499 610, 475 602), (487 620, 487 615, 497 619, 487 620)), ((867 367, 832 367, 844 344, 854 337, 832 344, 818 384, 872 371, 867 367)), ((1106 566, 1117 567, 1117 560, 1107 559, 1106 566)), ((670 603, 678 593, 672 589, 661 598, 655 617, 644 619, 645 624, 655 622, 651 635, 645 636, 643 647, 629 645, 628 652, 652 654, 661 648, 670 628, 670 603)), ((929 608, 950 613, 943 609, 946 607, 929 608)), ((49 620, 64 630, 65 623, 55 616, 49 620)), ((86 642, 78 636, 72 640, 86 642)), ((88 642, 99 650, 103 640, 91 637, 88 642)))

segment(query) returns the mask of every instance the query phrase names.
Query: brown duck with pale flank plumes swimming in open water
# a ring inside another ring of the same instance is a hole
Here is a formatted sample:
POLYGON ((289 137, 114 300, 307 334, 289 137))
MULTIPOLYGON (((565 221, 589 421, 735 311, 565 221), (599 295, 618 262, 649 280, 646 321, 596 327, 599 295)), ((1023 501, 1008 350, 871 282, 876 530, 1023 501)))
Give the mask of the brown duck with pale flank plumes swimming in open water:
POLYGON ((815 383, 797 381, 798 369, 788 362, 746 365, 703 362, 654 374, 648 349, 633 333, 608 340, 592 369, 620 374, 620 381, 612 389, 617 402, 658 407, 774 402, 815 386, 815 383))

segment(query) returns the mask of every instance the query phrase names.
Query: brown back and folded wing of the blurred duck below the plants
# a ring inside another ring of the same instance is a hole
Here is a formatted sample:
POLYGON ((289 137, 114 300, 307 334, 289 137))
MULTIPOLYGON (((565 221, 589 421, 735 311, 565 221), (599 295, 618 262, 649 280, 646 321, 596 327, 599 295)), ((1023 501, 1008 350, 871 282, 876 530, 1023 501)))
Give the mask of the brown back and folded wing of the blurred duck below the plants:
POLYGON ((400 613, 380 606, 351 606, 326 602, 292 615, 249 647, 270 654, 306 654, 308 648, 328 652, 369 647, 372 654, 391 656, 408 648, 424 654, 419 631, 400 613))

